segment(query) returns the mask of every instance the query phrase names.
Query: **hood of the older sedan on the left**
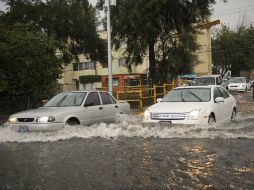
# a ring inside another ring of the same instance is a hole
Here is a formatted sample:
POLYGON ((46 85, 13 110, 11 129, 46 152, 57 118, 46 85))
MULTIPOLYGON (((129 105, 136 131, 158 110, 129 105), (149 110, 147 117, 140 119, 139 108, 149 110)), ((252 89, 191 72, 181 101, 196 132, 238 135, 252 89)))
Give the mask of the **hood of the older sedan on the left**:
POLYGON ((34 118, 34 117, 43 117, 43 116, 51 116, 58 112, 64 112, 70 110, 71 107, 40 107, 38 109, 32 109, 27 111, 18 112, 16 114, 11 115, 12 117, 22 118, 34 118))

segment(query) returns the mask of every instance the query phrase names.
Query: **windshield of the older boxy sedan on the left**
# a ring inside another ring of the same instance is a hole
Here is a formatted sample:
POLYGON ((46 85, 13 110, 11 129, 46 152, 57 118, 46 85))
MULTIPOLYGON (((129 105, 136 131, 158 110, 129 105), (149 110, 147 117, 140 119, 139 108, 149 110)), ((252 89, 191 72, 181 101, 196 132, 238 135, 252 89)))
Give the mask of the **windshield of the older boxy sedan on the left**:
POLYGON ((86 92, 67 92, 54 96, 44 107, 80 106, 86 92))

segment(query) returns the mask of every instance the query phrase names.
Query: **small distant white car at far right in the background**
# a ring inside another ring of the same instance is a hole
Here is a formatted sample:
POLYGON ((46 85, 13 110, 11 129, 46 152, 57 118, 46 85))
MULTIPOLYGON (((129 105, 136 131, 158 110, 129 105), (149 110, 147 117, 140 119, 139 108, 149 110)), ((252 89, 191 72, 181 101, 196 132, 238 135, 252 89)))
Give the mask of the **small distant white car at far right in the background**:
POLYGON ((245 77, 233 77, 228 83, 229 91, 248 91, 251 88, 251 83, 245 77))

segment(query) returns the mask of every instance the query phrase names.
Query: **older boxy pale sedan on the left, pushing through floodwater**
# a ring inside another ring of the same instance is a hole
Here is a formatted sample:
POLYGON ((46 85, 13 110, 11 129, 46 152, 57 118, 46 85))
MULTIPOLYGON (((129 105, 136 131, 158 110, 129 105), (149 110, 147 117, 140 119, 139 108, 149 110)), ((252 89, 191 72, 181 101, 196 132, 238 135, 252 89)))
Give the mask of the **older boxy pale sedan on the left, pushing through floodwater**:
POLYGON ((5 124, 18 131, 58 130, 67 125, 114 122, 118 113, 129 113, 126 101, 116 101, 102 91, 63 92, 43 107, 16 113, 5 124))

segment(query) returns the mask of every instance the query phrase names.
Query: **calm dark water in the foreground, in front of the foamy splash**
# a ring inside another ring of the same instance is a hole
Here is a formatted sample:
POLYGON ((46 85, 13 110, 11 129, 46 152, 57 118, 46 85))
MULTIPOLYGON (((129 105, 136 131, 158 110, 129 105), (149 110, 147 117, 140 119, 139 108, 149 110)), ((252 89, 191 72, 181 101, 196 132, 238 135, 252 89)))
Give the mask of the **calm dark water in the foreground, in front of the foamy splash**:
POLYGON ((253 189, 252 139, 0 144, 0 189, 253 189))

